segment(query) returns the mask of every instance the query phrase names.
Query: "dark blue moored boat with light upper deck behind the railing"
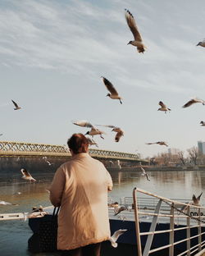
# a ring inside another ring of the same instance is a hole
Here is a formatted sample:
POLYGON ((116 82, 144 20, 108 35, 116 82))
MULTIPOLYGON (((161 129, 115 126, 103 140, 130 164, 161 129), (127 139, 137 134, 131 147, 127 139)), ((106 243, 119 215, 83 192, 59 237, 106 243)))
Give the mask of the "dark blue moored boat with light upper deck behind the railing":
MULTIPOLYGON (((186 255, 188 251, 200 251, 205 239, 205 208, 185 199, 166 199, 147 191, 135 189, 143 197, 125 197, 118 206, 109 207, 112 234, 119 229, 127 231, 117 240, 118 247, 103 243, 102 255, 186 255), (117 213, 119 208, 123 208, 117 213)), ((110 204, 111 205, 111 204, 110 204)), ((53 207, 43 208, 52 217, 53 207)), ((34 235, 29 249, 38 252, 39 225, 42 218, 30 218, 34 235)))

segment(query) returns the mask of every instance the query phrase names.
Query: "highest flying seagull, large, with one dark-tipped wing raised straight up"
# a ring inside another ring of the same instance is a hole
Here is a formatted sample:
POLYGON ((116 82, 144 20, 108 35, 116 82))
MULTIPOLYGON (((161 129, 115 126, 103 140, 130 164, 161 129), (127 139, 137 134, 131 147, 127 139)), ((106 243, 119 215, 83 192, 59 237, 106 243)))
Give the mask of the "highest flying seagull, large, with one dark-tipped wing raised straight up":
POLYGON ((127 44, 132 44, 133 46, 135 46, 138 49, 139 53, 144 53, 145 46, 143 43, 143 39, 141 38, 141 35, 139 34, 138 27, 136 25, 136 22, 134 21, 134 16, 127 9, 125 9, 125 19, 127 21, 127 25, 130 27, 132 34, 134 35, 134 41, 130 41, 127 44))

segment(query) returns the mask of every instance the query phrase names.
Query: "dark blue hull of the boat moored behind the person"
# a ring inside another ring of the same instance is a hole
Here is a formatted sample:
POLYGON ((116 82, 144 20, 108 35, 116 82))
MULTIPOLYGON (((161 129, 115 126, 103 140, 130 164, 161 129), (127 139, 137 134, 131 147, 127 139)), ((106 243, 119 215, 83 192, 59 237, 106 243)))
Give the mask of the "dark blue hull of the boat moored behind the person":
MULTIPOLYGON (((47 219, 51 218, 52 215, 45 216, 47 219)), ((34 253, 39 253, 40 246, 39 246, 39 223, 44 221, 44 218, 30 218, 29 219, 29 226, 30 229, 34 232, 34 235, 30 237, 29 240, 29 250, 34 253)), ((115 249, 112 247, 109 241, 104 242, 102 246, 102 255, 137 255, 137 246, 136 246, 136 235, 135 235, 135 223, 133 221, 121 221, 116 219, 110 219, 110 226, 111 226, 111 233, 113 234, 114 231, 119 229, 126 229, 127 231, 119 237, 117 240, 118 247, 115 249), (129 252, 129 254, 128 254, 129 252)), ((139 228, 141 232, 149 231, 151 226, 151 222, 140 222, 139 228)), ((175 225, 175 228, 183 227, 183 225, 175 225)), ((169 230, 170 224, 169 223, 157 223, 156 231, 164 231, 169 230)), ((205 231, 205 226, 202 227, 202 232, 205 231)), ((197 228, 190 229, 191 236, 198 234, 197 228)), ((141 245, 144 249, 146 240, 148 235, 141 236, 141 245)), ((183 240, 186 238, 186 230, 181 230, 175 232, 175 242, 179 240, 183 240)), ((205 235, 203 235, 202 240, 205 240, 205 235)), ((163 234, 156 234, 153 236, 153 244, 152 249, 161 247, 163 245, 169 244, 169 233, 163 234)), ((198 244, 198 238, 194 238, 191 240, 191 247, 198 244)), ((179 245, 175 245, 175 254, 180 254, 180 252, 185 251, 186 249, 186 242, 180 243, 179 245)), ((157 254, 152 255, 168 255, 168 251, 163 250, 157 254)))

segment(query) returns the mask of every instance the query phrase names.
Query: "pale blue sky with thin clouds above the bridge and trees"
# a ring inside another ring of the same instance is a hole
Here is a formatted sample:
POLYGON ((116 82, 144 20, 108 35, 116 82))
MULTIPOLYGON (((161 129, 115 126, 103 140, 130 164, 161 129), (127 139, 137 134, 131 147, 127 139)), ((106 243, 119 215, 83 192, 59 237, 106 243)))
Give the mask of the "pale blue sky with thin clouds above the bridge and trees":
MULTIPOLYGON (((38 1, 0 2, 2 140, 66 144, 73 120, 120 126, 119 143, 105 128, 100 149, 144 157, 165 152, 148 142, 166 141, 181 150, 205 140, 204 1, 38 1), (133 14, 147 46, 127 45, 133 36, 124 9, 133 14), (106 97, 105 76, 124 98, 106 97), (22 107, 14 111, 11 98, 22 107), (171 112, 157 112, 162 100, 171 112)), ((103 129, 102 129, 103 130, 103 129)))

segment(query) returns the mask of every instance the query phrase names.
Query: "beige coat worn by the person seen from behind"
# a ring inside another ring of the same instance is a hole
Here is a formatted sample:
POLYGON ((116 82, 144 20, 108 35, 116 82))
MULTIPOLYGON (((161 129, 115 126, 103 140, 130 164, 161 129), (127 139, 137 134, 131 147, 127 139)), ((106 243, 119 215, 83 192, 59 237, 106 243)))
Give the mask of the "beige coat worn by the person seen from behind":
POLYGON ((75 249, 109 238, 107 190, 112 190, 112 178, 89 153, 78 153, 57 169, 50 188, 52 204, 61 205, 57 249, 75 249))

